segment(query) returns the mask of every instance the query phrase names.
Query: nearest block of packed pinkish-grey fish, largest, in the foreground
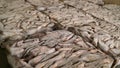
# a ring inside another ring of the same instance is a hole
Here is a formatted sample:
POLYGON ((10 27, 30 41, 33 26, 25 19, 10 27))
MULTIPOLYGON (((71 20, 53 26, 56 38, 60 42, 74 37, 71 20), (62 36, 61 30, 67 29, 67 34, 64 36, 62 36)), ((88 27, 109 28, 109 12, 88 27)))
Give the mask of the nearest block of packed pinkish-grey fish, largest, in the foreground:
POLYGON ((113 65, 111 57, 67 30, 36 33, 31 37, 10 47, 8 59, 14 60, 13 68, 110 68, 113 65))

